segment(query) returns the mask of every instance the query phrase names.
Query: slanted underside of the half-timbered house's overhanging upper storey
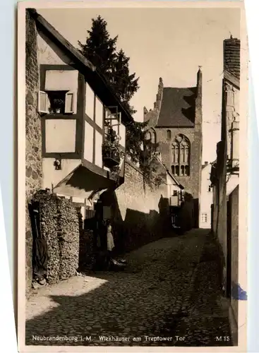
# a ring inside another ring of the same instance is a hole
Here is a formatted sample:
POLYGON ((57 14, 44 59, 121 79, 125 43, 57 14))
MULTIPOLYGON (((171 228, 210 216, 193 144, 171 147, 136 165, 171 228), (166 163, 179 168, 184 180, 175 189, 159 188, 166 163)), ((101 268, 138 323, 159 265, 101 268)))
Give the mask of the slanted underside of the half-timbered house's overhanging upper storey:
POLYGON ((80 164, 59 184, 54 186, 54 193, 78 198, 89 198, 93 192, 114 187, 115 181, 92 172, 80 164))

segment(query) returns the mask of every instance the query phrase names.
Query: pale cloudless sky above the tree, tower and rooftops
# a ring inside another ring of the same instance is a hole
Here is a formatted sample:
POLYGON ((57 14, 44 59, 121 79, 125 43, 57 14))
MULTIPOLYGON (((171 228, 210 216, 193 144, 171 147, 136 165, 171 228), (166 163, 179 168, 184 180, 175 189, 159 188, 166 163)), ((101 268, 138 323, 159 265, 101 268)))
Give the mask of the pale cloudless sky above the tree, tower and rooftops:
POLYGON ((37 8, 66 40, 78 48, 92 18, 107 21, 116 48, 130 57, 140 89, 131 104, 143 121, 143 107, 153 108, 159 77, 164 87, 193 87, 203 71, 203 162, 216 158, 220 140, 223 41, 240 38, 238 8, 37 8))

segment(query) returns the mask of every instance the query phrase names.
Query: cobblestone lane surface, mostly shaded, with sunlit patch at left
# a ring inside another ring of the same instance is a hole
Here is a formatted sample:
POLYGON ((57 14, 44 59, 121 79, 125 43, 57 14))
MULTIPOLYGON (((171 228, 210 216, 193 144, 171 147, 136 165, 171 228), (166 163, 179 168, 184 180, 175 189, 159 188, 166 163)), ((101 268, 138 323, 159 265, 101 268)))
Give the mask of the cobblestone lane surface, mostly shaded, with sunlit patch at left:
POLYGON ((88 273, 38 289, 27 301, 25 344, 231 345, 207 231, 160 239, 126 260, 123 273, 88 273))

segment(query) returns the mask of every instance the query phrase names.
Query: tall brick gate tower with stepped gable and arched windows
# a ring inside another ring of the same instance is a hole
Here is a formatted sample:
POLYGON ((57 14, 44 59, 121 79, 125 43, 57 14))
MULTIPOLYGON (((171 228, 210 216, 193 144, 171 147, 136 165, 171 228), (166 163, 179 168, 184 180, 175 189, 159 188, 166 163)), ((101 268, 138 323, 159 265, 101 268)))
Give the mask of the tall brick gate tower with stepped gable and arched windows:
POLYGON ((193 196, 194 223, 198 227, 202 167, 202 78, 199 67, 197 85, 191 88, 164 87, 159 78, 154 109, 144 108, 149 121, 147 138, 159 143, 162 163, 193 196))

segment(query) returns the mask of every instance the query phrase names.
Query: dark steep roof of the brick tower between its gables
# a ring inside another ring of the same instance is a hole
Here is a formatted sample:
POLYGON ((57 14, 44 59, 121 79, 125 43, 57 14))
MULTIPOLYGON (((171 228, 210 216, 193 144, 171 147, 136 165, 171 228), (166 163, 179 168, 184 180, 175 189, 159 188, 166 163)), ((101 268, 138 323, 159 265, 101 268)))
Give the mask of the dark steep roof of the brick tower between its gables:
POLYGON ((157 127, 193 127, 197 88, 163 89, 157 127))

